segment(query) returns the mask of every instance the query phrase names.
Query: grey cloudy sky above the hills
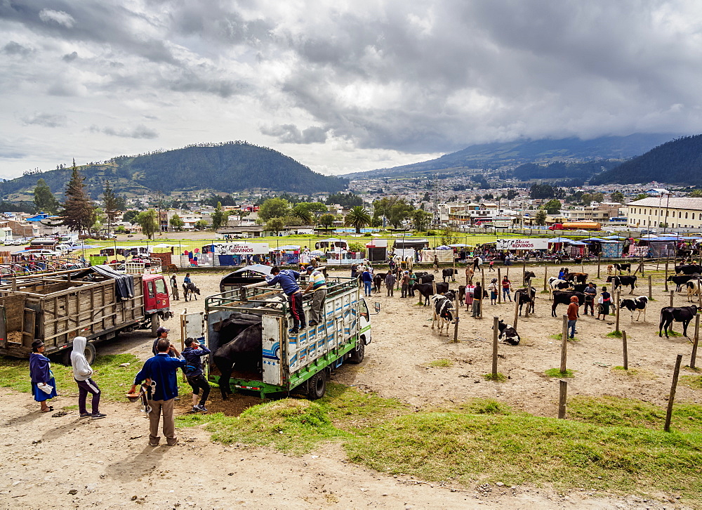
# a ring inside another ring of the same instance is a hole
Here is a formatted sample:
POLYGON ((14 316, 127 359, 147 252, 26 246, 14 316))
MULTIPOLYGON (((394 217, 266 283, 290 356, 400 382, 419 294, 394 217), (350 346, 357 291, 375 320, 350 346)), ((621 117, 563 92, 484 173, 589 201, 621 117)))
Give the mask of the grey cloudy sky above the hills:
POLYGON ((0 0, 0 176, 248 140, 341 174, 702 132, 702 2, 0 0))

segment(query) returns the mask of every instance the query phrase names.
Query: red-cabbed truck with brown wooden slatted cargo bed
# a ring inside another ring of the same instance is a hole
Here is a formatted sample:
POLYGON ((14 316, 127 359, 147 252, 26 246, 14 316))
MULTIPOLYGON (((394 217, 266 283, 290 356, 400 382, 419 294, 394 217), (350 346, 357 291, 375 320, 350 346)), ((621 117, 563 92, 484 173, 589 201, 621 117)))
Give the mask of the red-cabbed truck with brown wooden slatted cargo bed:
MULTIPOLYGON (((46 355, 62 353, 69 365, 76 336, 105 341, 133 329, 152 329, 155 335, 161 319, 173 315, 163 275, 124 275, 133 278, 133 293, 123 297, 117 280, 97 268, 18 277, 0 285, 0 355, 27 358, 32 341, 40 339, 46 355)), ((86 358, 95 358, 92 342, 86 358)))

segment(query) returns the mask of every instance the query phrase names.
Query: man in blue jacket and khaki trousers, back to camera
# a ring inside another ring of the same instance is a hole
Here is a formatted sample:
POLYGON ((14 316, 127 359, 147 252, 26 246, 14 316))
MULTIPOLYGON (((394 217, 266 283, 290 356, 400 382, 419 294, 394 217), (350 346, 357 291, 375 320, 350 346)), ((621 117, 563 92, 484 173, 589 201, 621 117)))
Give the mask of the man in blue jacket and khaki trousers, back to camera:
POLYGON ((156 383, 153 394, 149 395, 149 444, 158 446, 161 437, 159 436, 159 421, 161 414, 164 416, 164 436, 168 446, 178 443, 176 436, 176 421, 173 419, 173 404, 178 396, 178 381, 176 373, 178 368, 185 367, 185 360, 180 357, 176 346, 171 344, 166 338, 157 341, 158 354, 149 358, 144 366, 136 374, 134 383, 129 393, 136 391, 137 384, 141 384, 146 379, 156 383))

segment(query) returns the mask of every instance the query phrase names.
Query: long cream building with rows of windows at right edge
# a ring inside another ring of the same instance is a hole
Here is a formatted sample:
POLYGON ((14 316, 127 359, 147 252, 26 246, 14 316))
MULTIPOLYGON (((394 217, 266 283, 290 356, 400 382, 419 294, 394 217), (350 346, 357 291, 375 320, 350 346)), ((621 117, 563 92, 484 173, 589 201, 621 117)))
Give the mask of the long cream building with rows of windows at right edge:
POLYGON ((649 197, 627 206, 630 227, 702 228, 702 198, 649 197))

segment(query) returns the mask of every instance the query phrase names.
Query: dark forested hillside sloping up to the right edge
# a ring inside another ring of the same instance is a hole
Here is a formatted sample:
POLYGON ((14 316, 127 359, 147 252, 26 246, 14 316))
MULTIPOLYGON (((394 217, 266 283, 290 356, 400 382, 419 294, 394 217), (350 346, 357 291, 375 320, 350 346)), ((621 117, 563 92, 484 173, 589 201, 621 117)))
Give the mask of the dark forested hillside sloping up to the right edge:
POLYGON ((702 135, 664 143, 590 179, 590 184, 647 183, 702 185, 702 135))

